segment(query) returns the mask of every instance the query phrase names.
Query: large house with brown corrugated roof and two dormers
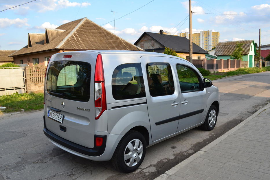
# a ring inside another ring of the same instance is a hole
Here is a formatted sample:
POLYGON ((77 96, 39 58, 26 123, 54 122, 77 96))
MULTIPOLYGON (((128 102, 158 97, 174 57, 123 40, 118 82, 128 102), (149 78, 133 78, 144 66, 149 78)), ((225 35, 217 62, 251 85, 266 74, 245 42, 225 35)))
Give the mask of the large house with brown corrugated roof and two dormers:
POLYGON ((125 41, 87 18, 45 29, 45 33, 29 33, 28 44, 9 57, 15 64, 45 65, 49 57, 59 52, 78 50, 134 50, 143 49, 125 41))

